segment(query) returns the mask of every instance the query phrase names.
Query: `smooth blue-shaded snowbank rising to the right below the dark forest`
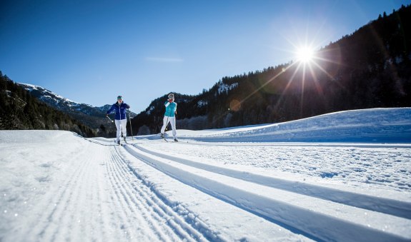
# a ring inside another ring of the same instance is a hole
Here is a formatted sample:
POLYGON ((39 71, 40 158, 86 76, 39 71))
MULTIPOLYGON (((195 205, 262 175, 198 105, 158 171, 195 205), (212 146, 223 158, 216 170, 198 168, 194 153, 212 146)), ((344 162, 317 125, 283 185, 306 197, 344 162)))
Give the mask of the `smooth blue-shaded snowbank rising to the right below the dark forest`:
POLYGON ((285 123, 183 134, 197 141, 411 143, 411 111, 340 111, 285 123))

